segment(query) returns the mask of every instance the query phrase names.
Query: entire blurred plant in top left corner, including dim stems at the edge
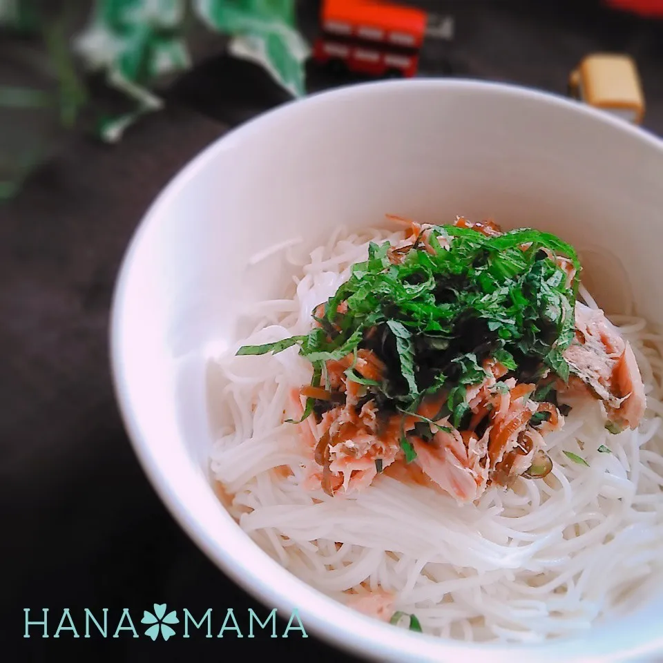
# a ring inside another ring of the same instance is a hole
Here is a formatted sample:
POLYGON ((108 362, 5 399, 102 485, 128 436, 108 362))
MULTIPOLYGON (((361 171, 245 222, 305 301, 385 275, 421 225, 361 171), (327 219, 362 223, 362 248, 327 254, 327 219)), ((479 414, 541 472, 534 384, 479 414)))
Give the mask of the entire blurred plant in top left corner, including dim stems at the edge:
MULTIPOLYGON (((194 21, 230 37, 231 55, 262 66, 292 95, 305 94, 309 46, 296 29, 295 0, 95 0, 84 29, 71 37, 79 10, 78 0, 0 0, 0 28, 23 46, 34 42, 26 64, 50 77, 43 90, 0 84, 0 112, 43 111, 56 124, 59 118, 62 128, 73 128, 82 111, 96 108, 97 135, 117 142, 137 119, 163 108, 164 79, 191 67, 194 21), (121 107, 93 97, 81 68, 119 93, 121 107)), ((2 122, 10 126, 0 117, 2 122)), ((13 140, 11 154, 0 154, 0 198, 15 193, 48 153, 37 145, 39 131, 21 135, 29 140, 13 140)))

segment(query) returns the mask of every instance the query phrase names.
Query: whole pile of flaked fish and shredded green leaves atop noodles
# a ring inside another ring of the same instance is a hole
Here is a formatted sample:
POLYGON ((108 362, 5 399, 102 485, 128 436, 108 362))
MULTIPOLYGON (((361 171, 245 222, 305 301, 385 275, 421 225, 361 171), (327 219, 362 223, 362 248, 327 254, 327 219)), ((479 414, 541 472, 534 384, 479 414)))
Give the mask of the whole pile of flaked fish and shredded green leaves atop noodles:
POLYGON ((633 352, 602 311, 576 302, 573 247, 492 221, 392 219, 403 240, 370 244, 309 334, 238 352, 298 345, 311 363, 294 399, 311 486, 361 490, 385 472, 473 501, 545 477, 544 436, 564 425, 558 396, 572 389, 604 402, 612 432, 638 425, 633 352))

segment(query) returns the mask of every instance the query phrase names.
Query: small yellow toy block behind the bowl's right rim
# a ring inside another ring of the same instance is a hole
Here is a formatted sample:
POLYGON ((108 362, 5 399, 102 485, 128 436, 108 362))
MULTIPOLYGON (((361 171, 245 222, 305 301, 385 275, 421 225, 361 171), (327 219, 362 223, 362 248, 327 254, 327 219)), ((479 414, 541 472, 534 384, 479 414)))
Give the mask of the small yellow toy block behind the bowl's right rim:
POLYGON ((569 78, 569 92, 590 106, 640 124, 644 95, 640 75, 627 55, 594 53, 585 57, 569 78))

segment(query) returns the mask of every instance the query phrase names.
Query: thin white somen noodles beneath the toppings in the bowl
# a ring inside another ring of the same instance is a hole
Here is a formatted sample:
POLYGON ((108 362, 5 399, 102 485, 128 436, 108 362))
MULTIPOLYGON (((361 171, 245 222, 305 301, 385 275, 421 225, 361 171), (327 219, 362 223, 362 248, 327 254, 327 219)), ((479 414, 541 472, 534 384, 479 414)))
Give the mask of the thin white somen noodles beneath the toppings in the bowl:
POLYGON ((256 305, 255 331, 213 358, 222 383, 211 400, 224 427, 211 468, 231 496, 231 515, 305 582, 342 602, 392 593, 394 608, 434 635, 536 642, 637 606, 663 580, 663 337, 640 318, 612 318, 642 372, 648 409, 640 427, 610 434, 599 401, 578 403, 546 436, 554 467, 545 479, 519 478, 513 490, 489 488, 463 505, 385 475, 352 497, 302 486, 305 452, 296 425, 284 420, 294 414, 292 388, 310 381, 310 363, 297 347, 234 353, 306 334, 311 311, 366 259, 368 242, 401 237, 338 231, 298 264, 293 291, 256 305))

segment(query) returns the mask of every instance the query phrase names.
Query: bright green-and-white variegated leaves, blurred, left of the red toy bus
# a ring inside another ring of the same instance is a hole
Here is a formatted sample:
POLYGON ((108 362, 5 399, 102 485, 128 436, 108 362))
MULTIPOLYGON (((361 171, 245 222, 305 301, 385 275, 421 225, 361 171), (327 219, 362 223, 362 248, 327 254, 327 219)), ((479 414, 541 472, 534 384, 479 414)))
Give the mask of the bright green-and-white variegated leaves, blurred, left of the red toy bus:
POLYGON ((215 32, 233 37, 231 55, 256 62, 289 90, 305 93, 309 48, 295 27, 294 0, 97 0, 75 47, 90 70, 133 101, 128 113, 99 122, 99 135, 115 142, 135 120, 162 108, 153 91, 164 75, 191 66, 188 12, 215 32))

